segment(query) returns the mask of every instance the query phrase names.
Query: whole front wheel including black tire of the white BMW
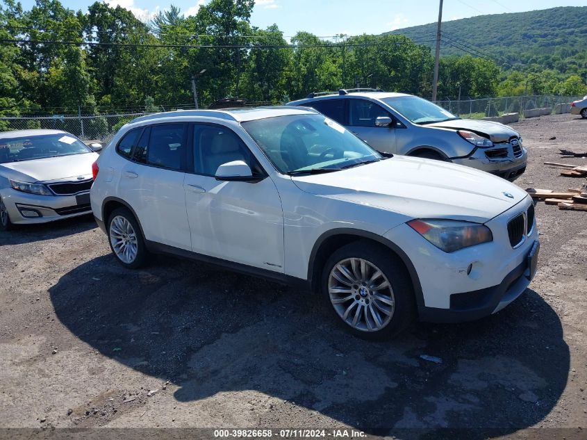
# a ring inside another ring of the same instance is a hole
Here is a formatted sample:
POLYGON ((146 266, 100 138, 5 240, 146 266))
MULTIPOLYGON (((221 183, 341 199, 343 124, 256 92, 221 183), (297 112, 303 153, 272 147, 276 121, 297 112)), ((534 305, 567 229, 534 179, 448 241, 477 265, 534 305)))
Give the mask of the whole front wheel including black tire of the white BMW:
POLYGON ((413 286, 403 263, 366 241, 345 245, 326 261, 322 295, 338 323, 365 339, 393 336, 415 316, 413 286))

